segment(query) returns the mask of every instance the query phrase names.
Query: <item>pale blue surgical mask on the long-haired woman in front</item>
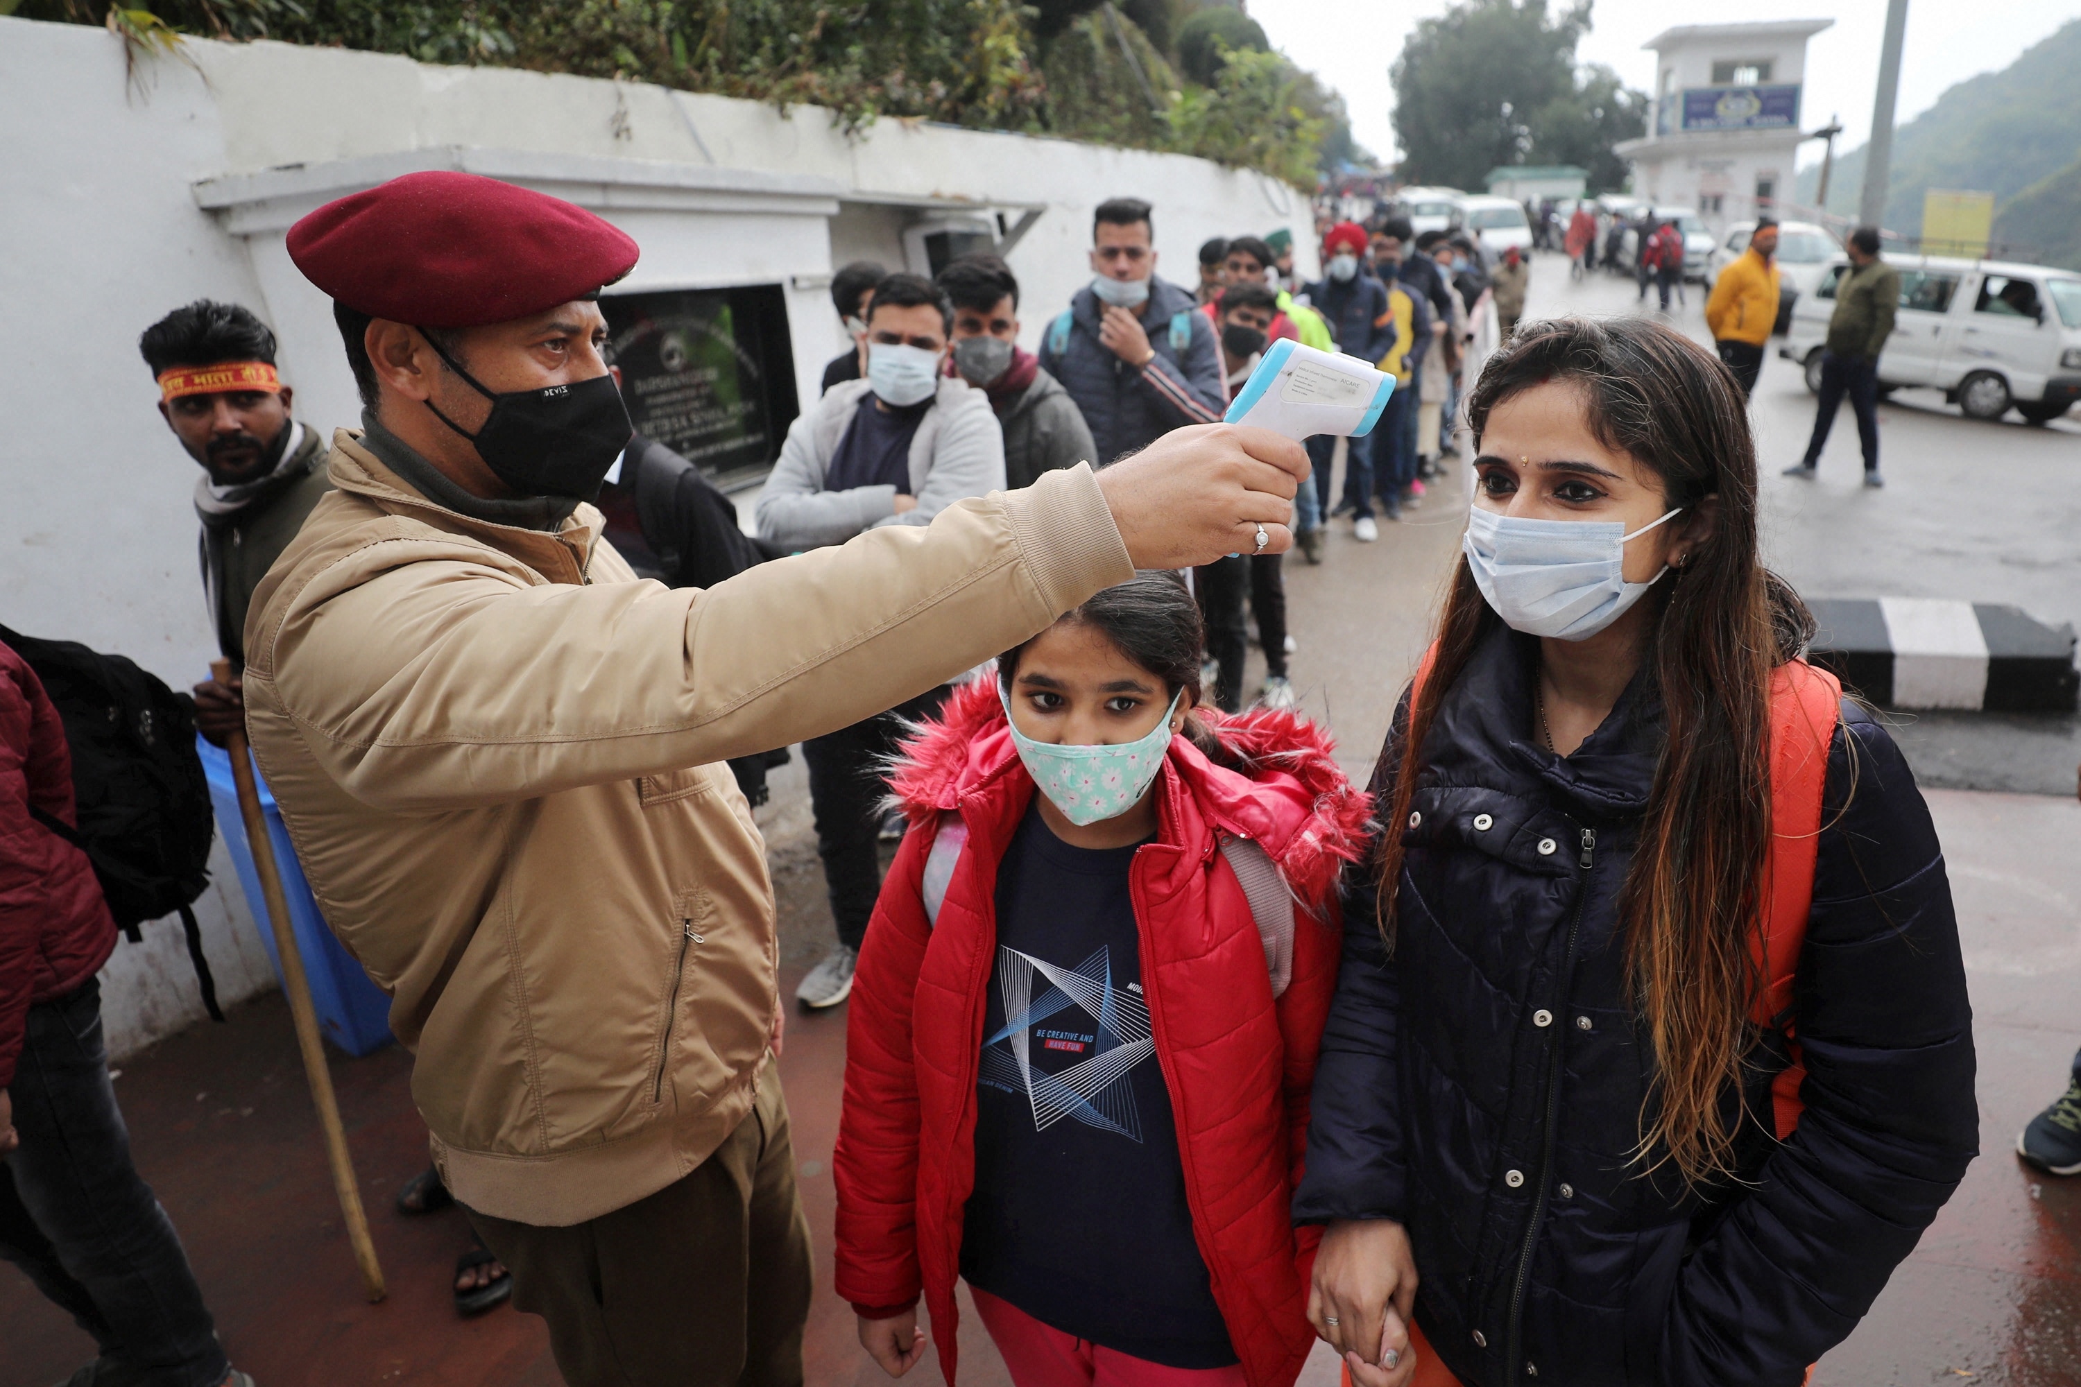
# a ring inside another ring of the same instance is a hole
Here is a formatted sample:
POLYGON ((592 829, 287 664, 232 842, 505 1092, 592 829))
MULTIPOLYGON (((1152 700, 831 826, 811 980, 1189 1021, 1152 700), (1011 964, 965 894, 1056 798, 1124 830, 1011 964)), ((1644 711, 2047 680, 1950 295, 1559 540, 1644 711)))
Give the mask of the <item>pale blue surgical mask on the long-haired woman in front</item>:
POLYGON ((1475 505, 1461 549, 1475 586, 1505 626, 1527 636, 1588 640, 1669 572, 1663 568, 1646 582, 1625 580, 1625 541, 1669 516, 1627 534, 1615 520, 1527 520, 1475 505))

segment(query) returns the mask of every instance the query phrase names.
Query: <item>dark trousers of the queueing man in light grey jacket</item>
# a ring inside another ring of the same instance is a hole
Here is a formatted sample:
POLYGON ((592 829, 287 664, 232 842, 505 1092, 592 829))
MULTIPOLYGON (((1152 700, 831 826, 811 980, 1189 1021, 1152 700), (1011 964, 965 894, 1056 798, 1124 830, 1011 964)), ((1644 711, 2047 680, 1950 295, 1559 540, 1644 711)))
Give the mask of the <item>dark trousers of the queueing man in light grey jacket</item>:
POLYGON ((801 757, 810 763, 816 855, 824 859, 830 919, 847 948, 859 948, 859 940, 868 938, 874 898, 882 892, 880 826, 882 799, 889 794, 882 763, 903 738, 903 722, 930 717, 945 701, 947 688, 941 686, 801 744, 801 757))

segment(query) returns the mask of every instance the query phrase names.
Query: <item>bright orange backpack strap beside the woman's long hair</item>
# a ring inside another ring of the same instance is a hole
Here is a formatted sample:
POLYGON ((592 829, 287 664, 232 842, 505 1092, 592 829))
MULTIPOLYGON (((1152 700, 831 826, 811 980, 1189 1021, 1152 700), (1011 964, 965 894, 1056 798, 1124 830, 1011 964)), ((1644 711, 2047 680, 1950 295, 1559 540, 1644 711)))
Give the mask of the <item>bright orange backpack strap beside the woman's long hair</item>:
POLYGON ((1806 1065, 1792 1031, 1792 982, 1806 944, 1827 753, 1840 719, 1842 682, 1833 674, 1802 659, 1771 672, 1771 846, 1763 863, 1763 917, 1752 940, 1763 994, 1750 1019, 1781 1031, 1792 1052, 1792 1063, 1771 1079, 1771 1119, 1779 1142, 1792 1135, 1806 1108, 1800 1100, 1806 1065))

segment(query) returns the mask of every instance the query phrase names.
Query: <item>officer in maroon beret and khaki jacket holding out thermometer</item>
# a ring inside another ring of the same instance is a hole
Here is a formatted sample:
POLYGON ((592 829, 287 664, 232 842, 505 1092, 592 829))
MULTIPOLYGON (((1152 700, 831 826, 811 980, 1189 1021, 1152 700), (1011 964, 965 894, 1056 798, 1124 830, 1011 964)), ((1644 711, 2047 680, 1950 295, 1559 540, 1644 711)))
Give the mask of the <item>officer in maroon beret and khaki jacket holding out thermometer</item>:
POLYGON ((774 902, 722 761, 903 703, 1136 568, 1286 549, 1307 457, 1180 430, 672 591, 585 503, 631 433, 593 302, 626 235, 418 173, 289 254, 366 412, 254 595, 248 726, 393 996, 435 1162, 570 1383, 799 1383, 774 902))

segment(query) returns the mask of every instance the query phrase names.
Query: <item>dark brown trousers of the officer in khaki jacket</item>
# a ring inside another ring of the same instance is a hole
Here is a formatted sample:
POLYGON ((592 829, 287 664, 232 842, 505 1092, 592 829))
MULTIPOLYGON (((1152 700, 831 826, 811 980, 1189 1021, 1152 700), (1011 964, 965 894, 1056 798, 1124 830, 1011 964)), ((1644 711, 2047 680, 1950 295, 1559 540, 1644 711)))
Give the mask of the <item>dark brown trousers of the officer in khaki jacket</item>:
POLYGON ((649 1198, 560 1229, 464 1212, 570 1387, 801 1387, 810 1221, 772 1069, 722 1146, 649 1198))

